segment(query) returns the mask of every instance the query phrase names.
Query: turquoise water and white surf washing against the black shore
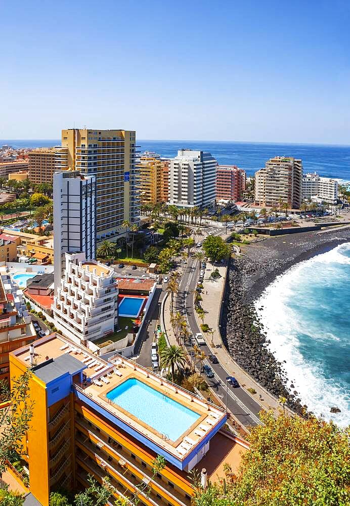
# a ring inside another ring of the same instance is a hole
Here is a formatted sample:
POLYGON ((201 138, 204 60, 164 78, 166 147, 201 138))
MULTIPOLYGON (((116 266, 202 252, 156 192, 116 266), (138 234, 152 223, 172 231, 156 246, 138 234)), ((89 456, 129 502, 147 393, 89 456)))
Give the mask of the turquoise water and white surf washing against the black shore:
POLYGON ((255 307, 302 404, 350 424, 350 242, 276 278, 255 307), (341 412, 331 414, 330 408, 341 412))

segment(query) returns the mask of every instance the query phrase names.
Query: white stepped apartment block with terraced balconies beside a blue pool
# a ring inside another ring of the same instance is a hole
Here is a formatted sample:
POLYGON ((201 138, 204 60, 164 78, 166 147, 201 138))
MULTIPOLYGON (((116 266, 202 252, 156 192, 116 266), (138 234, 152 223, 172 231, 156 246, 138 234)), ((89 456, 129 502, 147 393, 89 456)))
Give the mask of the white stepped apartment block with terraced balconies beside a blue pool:
POLYGON ((114 270, 86 260, 84 252, 65 254, 65 271, 52 310, 55 325, 77 344, 114 332, 117 325, 118 287, 114 270))

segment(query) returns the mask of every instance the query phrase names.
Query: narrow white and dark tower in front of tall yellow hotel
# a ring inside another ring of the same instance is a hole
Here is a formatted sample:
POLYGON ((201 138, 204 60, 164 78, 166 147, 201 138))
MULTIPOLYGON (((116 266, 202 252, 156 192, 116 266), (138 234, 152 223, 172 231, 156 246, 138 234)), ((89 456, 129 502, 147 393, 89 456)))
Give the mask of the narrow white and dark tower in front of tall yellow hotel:
POLYGON ((61 171, 54 174, 55 292, 64 274, 64 254, 74 251, 96 259, 96 177, 61 171))

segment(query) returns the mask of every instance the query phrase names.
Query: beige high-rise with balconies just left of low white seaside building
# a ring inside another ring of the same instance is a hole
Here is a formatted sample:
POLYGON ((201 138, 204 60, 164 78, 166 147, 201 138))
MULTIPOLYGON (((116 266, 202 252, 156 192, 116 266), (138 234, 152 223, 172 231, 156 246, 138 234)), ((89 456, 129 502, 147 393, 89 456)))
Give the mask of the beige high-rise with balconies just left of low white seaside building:
POLYGON ((255 204, 299 209, 301 203, 302 161, 291 156, 275 156, 255 173, 255 204))

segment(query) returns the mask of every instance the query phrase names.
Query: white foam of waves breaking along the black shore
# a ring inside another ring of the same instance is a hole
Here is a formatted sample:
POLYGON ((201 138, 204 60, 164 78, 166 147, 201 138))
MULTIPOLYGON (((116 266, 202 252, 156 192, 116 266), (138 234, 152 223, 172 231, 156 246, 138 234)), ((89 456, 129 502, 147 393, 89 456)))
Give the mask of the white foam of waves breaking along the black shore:
MULTIPOLYGON (((300 322, 300 312, 289 307, 286 303, 295 297, 295 286, 300 283, 305 287, 305 300, 312 297, 312 287, 305 283, 305 263, 308 266, 314 264, 314 269, 322 275, 322 266, 328 264, 350 264, 350 258, 344 252, 350 250, 350 243, 342 244, 331 251, 317 257, 301 262, 284 274, 279 276, 274 283, 269 285, 262 296, 255 303, 261 323, 267 331, 270 339, 270 350, 276 359, 282 362, 286 370, 289 383, 293 383, 302 404, 307 404, 309 410, 317 416, 322 415, 325 419, 333 419, 338 425, 345 426, 350 423, 350 393, 344 384, 337 383, 333 379, 324 376, 323 370, 316 363, 304 359, 300 353, 298 336, 305 334, 305 322, 300 322), (316 265, 319 264, 319 265, 316 265), (309 291, 308 291, 309 290, 309 291), (262 309, 258 309, 261 308, 262 309), (286 360, 286 363, 283 361, 286 360), (340 413, 330 413, 330 408, 337 406, 340 413)), ((303 304, 305 301, 295 301, 303 304)), ((310 304, 318 304, 321 301, 309 301, 310 304)), ((326 306, 325 306, 326 309, 326 306)), ((310 322, 310 327, 313 327, 310 322)), ((317 340, 319 345, 325 341, 339 341, 339 336, 329 332, 329 329, 320 330, 317 335, 309 335, 308 339, 317 340)))

